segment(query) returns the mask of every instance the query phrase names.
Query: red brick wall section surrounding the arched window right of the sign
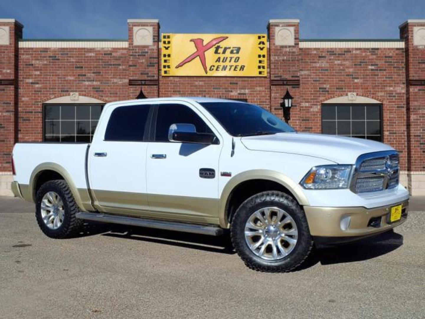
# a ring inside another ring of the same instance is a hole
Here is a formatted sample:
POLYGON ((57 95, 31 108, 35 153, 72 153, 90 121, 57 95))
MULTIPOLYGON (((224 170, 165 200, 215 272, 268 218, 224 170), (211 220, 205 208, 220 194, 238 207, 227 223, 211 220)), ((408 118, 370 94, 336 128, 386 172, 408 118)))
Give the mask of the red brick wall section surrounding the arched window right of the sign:
POLYGON ((292 125, 321 132, 321 104, 356 92, 383 105, 383 142, 400 151, 406 170, 405 56, 402 48, 302 48, 301 102, 292 125))

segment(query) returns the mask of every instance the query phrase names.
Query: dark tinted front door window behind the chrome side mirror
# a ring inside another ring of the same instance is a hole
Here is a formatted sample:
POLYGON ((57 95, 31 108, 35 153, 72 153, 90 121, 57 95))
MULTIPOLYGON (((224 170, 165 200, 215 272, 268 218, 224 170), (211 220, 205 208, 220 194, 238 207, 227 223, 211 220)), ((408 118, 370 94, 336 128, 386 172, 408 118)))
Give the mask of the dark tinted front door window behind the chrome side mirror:
POLYGON ((212 133, 210 128, 186 105, 160 104, 156 119, 155 140, 168 142, 168 130, 172 124, 193 124, 198 133, 212 133))

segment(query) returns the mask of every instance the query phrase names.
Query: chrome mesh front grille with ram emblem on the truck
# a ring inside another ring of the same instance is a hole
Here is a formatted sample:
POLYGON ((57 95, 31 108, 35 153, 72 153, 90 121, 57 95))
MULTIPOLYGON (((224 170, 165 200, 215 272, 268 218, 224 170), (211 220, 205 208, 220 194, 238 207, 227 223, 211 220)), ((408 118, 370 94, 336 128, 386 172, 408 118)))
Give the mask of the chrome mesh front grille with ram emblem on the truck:
POLYGON ((382 191, 399 183, 399 155, 384 151, 361 155, 354 168, 350 189, 354 193, 382 191))

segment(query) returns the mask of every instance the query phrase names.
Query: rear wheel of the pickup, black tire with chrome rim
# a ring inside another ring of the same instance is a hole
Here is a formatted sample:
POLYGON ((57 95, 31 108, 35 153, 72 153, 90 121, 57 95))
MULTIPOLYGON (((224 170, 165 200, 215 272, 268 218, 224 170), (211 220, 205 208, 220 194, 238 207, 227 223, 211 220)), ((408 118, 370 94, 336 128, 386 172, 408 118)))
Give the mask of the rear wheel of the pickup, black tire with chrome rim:
POLYGON ((82 225, 71 190, 62 179, 45 182, 37 191, 35 205, 37 223, 48 237, 74 236, 82 225))

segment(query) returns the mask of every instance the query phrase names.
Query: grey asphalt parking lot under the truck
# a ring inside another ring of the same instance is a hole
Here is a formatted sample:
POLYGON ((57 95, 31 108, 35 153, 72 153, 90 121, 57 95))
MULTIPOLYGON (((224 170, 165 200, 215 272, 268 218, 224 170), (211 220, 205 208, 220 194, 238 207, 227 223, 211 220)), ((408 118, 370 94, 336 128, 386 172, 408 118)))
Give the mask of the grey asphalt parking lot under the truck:
POLYGON ((411 207, 394 233, 271 274, 227 236, 98 224, 49 239, 31 203, 0 197, 0 318, 424 318, 425 200, 411 207))

